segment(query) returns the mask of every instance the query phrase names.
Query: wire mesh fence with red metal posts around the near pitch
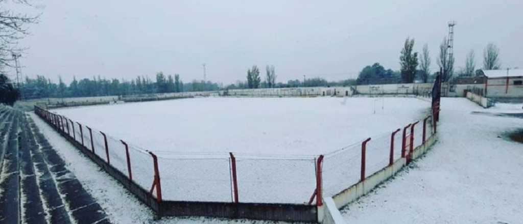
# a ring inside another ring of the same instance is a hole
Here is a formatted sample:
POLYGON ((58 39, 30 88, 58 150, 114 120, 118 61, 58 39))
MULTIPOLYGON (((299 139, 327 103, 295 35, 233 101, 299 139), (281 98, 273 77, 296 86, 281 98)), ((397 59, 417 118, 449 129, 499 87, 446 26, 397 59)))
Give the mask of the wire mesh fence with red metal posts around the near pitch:
POLYGON ((35 113, 164 201, 313 203, 391 166, 435 133, 432 116, 325 155, 147 151, 35 106, 35 113), (163 191, 162 191, 163 190, 163 191))

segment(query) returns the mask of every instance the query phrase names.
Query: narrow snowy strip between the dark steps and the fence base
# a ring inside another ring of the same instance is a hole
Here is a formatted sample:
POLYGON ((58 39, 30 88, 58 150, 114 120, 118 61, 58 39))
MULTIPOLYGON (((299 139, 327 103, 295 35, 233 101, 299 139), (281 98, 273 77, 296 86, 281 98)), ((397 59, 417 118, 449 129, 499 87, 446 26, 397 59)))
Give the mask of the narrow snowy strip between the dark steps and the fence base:
POLYGON ((66 161, 67 169, 71 170, 84 188, 91 194, 98 204, 106 211, 111 223, 285 223, 274 221, 228 220, 206 217, 165 217, 157 219, 151 209, 142 204, 130 194, 115 179, 102 171, 93 161, 79 152, 54 129, 47 125, 38 116, 31 113, 40 132, 46 137, 54 150, 66 161))

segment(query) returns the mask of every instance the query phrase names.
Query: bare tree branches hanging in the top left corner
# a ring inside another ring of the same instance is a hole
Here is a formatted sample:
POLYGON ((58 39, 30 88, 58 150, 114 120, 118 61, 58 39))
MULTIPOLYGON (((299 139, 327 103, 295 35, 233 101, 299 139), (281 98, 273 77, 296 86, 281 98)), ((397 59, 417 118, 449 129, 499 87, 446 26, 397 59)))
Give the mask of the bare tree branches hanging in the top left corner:
MULTIPOLYGON (((14 0, 14 3, 31 6, 26 0, 14 0)), ((0 69, 13 67, 13 55, 23 50, 18 41, 28 33, 26 25, 37 22, 38 16, 30 17, 5 9, 5 0, 0 0, 0 69)))

